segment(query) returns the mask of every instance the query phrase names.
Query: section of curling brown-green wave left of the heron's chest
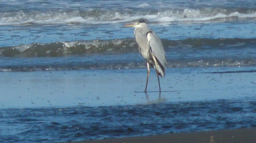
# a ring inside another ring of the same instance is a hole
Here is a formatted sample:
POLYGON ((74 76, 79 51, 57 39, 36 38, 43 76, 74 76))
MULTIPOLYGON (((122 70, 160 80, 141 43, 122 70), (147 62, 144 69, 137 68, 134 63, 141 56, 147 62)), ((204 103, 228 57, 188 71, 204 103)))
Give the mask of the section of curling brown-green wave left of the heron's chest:
POLYGON ((132 52, 136 50, 134 39, 65 41, 55 43, 21 44, 0 48, 0 56, 6 57, 60 57, 86 53, 132 52))

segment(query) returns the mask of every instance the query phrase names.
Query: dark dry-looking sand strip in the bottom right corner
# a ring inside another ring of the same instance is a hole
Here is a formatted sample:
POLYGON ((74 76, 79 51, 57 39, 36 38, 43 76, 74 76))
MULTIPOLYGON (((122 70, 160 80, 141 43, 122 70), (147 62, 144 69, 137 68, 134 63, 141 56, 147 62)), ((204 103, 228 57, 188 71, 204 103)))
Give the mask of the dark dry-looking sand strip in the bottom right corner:
POLYGON ((256 128, 86 140, 72 143, 256 143, 256 128))

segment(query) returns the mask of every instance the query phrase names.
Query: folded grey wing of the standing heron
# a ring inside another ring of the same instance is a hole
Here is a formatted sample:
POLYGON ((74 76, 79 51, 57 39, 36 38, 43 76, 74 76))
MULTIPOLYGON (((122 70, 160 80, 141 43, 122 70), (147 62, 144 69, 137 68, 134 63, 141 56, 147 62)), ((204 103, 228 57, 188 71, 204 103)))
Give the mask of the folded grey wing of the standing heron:
POLYGON ((150 50, 155 56, 157 61, 156 69, 158 70, 159 74, 162 77, 165 76, 165 69, 167 65, 166 56, 165 56, 165 49, 163 48, 163 44, 161 39, 157 36, 154 32, 147 33, 148 44, 150 46, 150 50))

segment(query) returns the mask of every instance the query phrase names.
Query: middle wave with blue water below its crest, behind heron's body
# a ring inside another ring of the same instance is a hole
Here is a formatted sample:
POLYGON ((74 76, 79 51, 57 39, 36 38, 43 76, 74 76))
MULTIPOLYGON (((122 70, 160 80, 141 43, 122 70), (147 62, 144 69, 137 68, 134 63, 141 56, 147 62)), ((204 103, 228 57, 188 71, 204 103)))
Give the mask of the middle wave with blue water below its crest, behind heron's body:
MULTIPOLYGON (((256 65, 256 39, 162 39, 167 67, 256 65)), ((0 48, 0 71, 146 68, 133 38, 0 48)))

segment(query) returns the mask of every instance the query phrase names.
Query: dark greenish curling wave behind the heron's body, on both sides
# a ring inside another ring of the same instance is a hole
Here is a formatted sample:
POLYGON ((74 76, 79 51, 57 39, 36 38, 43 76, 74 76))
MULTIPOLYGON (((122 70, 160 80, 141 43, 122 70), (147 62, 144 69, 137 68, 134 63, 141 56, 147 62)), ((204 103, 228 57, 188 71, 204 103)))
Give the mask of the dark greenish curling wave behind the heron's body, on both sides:
MULTIPOLYGON (((182 40, 162 39, 167 51, 181 48, 218 49, 253 47, 256 39, 209 39, 188 38, 182 40)), ((0 47, 0 56, 4 57, 61 57, 88 53, 128 53, 137 52, 134 38, 112 40, 58 41, 55 43, 32 43, 0 47)), ((182 51, 182 50, 181 50, 182 51)), ((173 52, 173 51, 172 51, 173 52)))

